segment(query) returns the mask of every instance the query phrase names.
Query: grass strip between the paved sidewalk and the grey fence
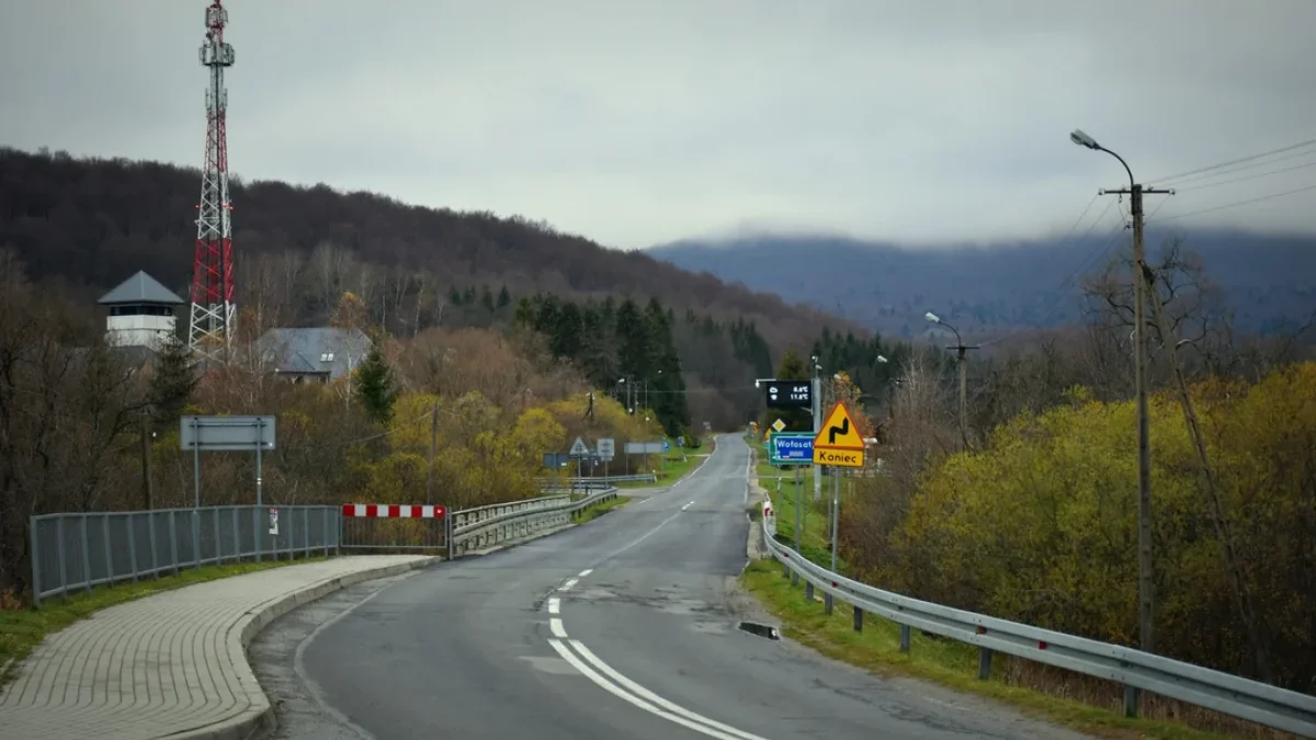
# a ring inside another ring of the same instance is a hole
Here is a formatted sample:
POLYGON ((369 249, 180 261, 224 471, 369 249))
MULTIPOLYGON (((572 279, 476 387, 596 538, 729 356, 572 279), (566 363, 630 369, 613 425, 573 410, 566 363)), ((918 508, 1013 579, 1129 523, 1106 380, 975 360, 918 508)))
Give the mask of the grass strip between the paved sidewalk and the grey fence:
POLYGON ((325 558, 313 557, 295 561, 280 560, 274 562, 207 565, 180 570, 178 575, 166 575, 158 579, 139 581, 137 583, 124 582, 116 586, 97 586, 89 594, 86 591, 72 594, 67 600, 50 598, 42 608, 25 607, 0 611, 0 666, 5 666, 0 672, 0 686, 9 682, 18 666, 22 665, 22 661, 46 639, 46 635, 58 632, 79 619, 91 616, 92 612, 99 610, 193 583, 321 560, 325 558))

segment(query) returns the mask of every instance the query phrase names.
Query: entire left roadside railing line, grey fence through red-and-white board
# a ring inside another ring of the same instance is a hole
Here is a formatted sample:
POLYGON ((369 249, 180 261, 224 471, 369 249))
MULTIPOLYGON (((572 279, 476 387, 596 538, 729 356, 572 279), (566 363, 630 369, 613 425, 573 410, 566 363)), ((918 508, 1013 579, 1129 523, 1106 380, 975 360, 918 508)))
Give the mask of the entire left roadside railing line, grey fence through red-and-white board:
POLYGON ((46 598, 203 565, 329 556, 342 549, 436 550, 458 557, 569 524, 586 508, 616 496, 616 487, 592 487, 584 498, 553 495, 463 511, 343 504, 43 514, 29 520, 32 600, 41 606, 46 598))

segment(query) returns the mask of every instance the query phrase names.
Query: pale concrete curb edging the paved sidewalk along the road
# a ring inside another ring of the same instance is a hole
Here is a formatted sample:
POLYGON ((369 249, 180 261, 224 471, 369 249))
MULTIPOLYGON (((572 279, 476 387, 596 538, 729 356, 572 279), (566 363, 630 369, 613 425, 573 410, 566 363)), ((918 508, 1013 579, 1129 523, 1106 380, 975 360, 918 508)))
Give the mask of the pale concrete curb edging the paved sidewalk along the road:
POLYGON ((326 578, 318 583, 312 583, 304 589, 293 591, 292 594, 286 594, 268 600, 246 612, 242 619, 240 619, 229 629, 226 641, 229 661, 238 672, 238 679, 246 690, 246 699, 249 702, 247 708, 237 716, 211 723, 205 727, 172 733, 170 735, 170 739, 247 740, 257 732, 274 729, 274 708, 270 704, 270 698, 266 697, 265 691, 261 689, 261 683, 257 681, 255 673, 251 672, 251 665, 247 662, 246 657, 246 648, 251 644, 251 640, 255 639, 257 633, 259 633, 265 625, 301 604, 311 603, 354 583, 361 583, 362 581, 388 578, 390 575, 397 575, 400 573, 407 573, 408 570, 425 568, 441 560, 443 558, 428 557, 413 562, 386 565, 382 568, 371 568, 367 570, 358 570, 357 573, 349 573, 346 575, 326 578))

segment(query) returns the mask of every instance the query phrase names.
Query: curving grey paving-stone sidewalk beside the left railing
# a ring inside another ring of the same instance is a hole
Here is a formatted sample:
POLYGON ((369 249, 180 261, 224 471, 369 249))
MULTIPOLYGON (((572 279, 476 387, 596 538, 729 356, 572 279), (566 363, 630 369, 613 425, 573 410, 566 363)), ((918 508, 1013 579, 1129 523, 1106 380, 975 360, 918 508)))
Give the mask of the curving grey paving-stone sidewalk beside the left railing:
POLYGON ((246 660, 261 627, 350 583, 433 560, 336 557, 101 610, 46 637, 0 691, 0 737, 245 737, 270 710, 246 660))

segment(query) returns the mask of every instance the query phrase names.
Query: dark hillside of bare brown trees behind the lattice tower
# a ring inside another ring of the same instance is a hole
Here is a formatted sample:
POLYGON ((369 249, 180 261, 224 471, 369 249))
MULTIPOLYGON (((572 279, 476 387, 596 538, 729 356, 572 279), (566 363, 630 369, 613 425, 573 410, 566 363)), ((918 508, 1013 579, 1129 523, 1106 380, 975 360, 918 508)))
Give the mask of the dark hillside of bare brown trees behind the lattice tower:
MULTIPOLYGON (((16 249, 34 279, 64 278, 86 298, 139 269, 186 295, 200 174, 125 159, 0 149, 0 248, 16 249)), ((453 286, 491 284, 512 295, 657 298, 678 313, 753 323, 774 350, 809 346, 824 325, 858 327, 775 295, 682 270, 641 251, 604 249, 522 217, 405 205, 368 192, 279 182, 232 188, 240 305, 276 283, 272 265, 290 253, 318 255, 318 274, 343 286, 312 286, 287 307, 287 324, 324 321, 338 287, 392 303, 392 321, 422 312, 424 296, 453 286), (345 270, 345 263, 351 270, 345 270), (316 292, 325 300, 316 300, 316 292)), ((267 298, 267 296, 266 296, 267 298)), ((440 299, 441 300, 441 299, 440 299)), ((426 313, 442 307, 425 307, 426 313)), ((396 327, 395 327, 396 329, 396 327)), ((415 332, 416 325, 411 327, 415 332)))

